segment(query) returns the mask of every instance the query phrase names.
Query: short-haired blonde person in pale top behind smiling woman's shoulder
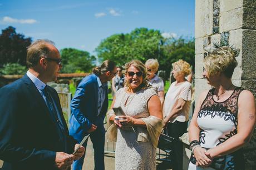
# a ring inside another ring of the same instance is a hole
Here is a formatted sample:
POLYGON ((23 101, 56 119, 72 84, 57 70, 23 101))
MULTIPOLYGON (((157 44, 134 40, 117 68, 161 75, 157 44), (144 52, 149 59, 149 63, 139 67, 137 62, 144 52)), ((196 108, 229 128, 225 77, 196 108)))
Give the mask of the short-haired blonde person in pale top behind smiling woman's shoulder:
POLYGON ((159 63, 157 59, 150 58, 146 61, 145 66, 147 68, 147 79, 151 84, 152 88, 155 89, 158 94, 161 103, 164 103, 164 81, 159 78, 155 73, 158 70, 159 63))

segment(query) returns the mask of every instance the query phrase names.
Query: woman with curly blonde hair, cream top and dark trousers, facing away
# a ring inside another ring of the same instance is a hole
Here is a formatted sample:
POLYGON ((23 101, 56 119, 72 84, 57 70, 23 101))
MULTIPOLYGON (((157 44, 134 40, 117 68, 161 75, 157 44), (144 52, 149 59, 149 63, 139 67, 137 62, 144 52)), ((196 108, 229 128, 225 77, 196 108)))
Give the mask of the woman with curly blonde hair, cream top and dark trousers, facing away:
POLYGON ((185 76, 191 72, 190 64, 180 59, 172 64, 175 82, 171 83, 165 96, 163 113, 164 124, 169 136, 175 138, 173 150, 173 169, 183 169, 183 144, 179 137, 186 132, 189 121, 189 108, 191 103, 191 83, 185 76))

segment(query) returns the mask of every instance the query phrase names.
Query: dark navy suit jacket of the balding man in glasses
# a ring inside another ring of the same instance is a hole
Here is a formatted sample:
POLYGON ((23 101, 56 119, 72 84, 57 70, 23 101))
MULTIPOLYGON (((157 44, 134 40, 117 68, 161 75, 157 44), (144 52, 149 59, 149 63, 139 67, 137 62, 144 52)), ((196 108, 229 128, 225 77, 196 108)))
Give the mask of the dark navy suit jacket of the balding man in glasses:
MULTIPOLYGON (((60 99, 50 88, 53 99, 62 113, 60 99)), ((63 114, 62 122, 64 121, 63 114)), ((68 153, 76 141, 67 135, 68 153)), ((31 79, 21 79, 0 89, 0 159, 2 169, 56 169, 56 152, 63 150, 56 124, 45 101, 31 79)), ((1 169, 1 168, 0 168, 1 169)))

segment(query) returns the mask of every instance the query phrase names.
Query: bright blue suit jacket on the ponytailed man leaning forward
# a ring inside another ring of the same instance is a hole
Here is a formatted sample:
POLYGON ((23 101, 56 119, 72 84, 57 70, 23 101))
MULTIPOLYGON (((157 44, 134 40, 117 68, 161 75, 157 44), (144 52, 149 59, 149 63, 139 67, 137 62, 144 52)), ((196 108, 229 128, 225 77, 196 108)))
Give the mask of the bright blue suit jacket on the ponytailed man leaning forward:
MULTIPOLYGON (((107 90, 107 89, 106 89, 107 90)), ((99 84, 95 74, 82 79, 71 101, 70 134, 77 141, 88 134, 91 124, 103 128, 103 121, 109 106, 107 93, 101 113, 98 113, 99 84)))

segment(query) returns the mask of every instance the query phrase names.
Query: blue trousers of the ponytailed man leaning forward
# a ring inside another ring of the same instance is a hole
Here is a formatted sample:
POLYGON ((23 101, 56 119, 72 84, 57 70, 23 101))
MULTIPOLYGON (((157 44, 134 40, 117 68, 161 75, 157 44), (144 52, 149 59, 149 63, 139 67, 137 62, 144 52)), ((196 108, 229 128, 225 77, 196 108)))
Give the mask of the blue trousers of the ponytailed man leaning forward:
MULTIPOLYGON (((105 129, 103 127, 99 127, 96 131, 90 133, 90 139, 92 141, 92 146, 94 149, 94 164, 95 170, 104 170, 104 144, 105 144, 105 129)), ((87 140, 88 141, 88 140, 87 140)), ((87 141, 83 143, 83 147, 86 148, 87 141)), ((86 153, 86 152, 85 152, 86 153)), ((83 159, 85 158, 85 154, 79 160, 73 162, 73 170, 81 170, 83 166, 83 159)), ((89 163, 89 162, 86 162, 89 163)))

